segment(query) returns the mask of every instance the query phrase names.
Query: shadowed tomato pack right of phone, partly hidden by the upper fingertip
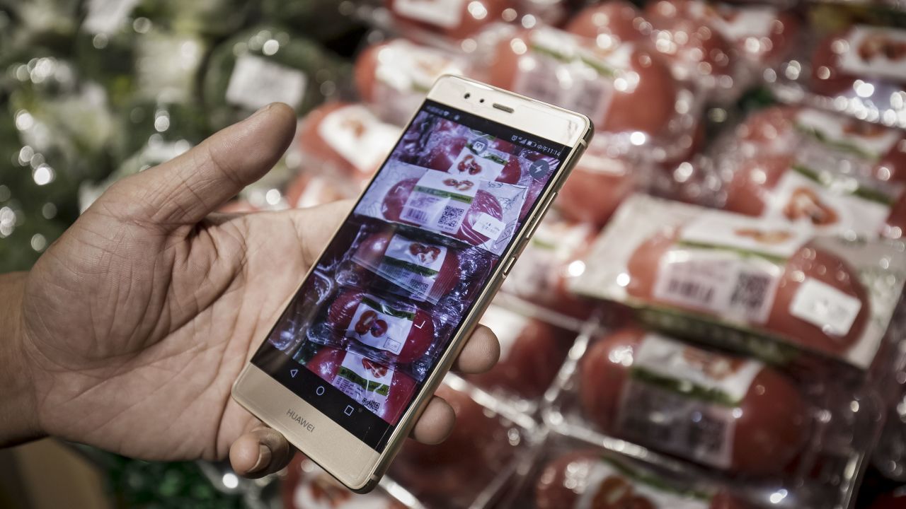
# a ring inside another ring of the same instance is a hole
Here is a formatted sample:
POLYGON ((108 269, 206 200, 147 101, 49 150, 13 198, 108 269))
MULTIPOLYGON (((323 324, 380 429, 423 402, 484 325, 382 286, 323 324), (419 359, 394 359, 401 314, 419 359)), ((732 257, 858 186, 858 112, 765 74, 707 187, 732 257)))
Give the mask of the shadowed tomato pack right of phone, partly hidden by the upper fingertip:
POLYGON ((500 358, 487 373, 465 378, 504 396, 540 398, 560 370, 575 333, 494 304, 487 308, 481 323, 496 334, 500 358))

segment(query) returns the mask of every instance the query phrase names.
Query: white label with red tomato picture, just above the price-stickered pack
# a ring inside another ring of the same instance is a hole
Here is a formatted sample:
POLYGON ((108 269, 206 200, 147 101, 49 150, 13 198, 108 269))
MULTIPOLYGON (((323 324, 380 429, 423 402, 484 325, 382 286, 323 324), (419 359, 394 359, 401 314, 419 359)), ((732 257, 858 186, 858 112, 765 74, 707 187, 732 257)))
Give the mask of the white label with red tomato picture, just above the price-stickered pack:
POLYGON ((768 195, 765 212, 770 219, 814 228, 825 235, 855 232, 876 235, 886 224, 891 206, 859 193, 853 178, 818 182, 810 168, 790 168, 768 195))

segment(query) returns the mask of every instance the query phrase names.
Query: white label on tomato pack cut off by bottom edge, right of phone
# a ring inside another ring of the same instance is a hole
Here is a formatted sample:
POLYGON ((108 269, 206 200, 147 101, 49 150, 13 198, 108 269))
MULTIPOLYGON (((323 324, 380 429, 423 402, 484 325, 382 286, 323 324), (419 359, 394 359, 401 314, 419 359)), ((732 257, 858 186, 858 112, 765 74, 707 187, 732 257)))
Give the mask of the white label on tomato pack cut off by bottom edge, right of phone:
POLYGON ((709 499, 669 491, 660 483, 646 483, 651 476, 636 478, 627 469, 601 461, 587 471, 567 471, 564 485, 574 485, 580 495, 573 509, 601 507, 651 507, 658 509, 708 509, 709 499), (577 477, 571 479, 571 477, 577 477), (578 477, 583 478, 578 478, 578 477))

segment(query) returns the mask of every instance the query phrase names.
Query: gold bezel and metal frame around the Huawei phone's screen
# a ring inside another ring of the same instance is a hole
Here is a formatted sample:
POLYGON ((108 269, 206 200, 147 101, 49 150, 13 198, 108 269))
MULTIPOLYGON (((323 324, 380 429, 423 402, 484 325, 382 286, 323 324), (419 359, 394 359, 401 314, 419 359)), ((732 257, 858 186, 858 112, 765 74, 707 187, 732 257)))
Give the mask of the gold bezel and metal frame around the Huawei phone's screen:
MULTIPOLYGON (((557 168, 542 195, 538 197, 532 213, 519 227, 515 235, 516 242, 501 254, 500 263, 496 264, 487 285, 478 294, 475 304, 463 317, 457 333, 451 338, 447 350, 440 355, 434 370, 425 379, 419 393, 400 418, 383 452, 379 453, 368 447, 358 437, 333 419, 324 416, 317 408, 296 396, 264 370, 246 362, 246 367, 233 385, 233 399, 267 426, 283 433, 290 443, 306 456, 357 493, 371 491, 380 481, 390 461, 410 435, 412 427, 458 357, 465 340, 475 330, 478 319, 503 283, 506 272, 522 252, 531 233, 535 231, 535 226, 545 215, 593 133, 592 122, 584 115, 458 76, 440 77, 429 91, 428 99, 555 141, 568 147, 570 153, 557 168), (499 108, 501 105, 506 109, 499 108), (312 425, 312 430, 301 427, 300 422, 291 418, 288 415, 290 410, 294 410, 295 415, 304 416, 306 424, 312 425), (317 430, 317 435, 313 430, 317 430)), ((371 182, 368 187, 370 186, 371 182)), ((339 227, 333 235, 338 231, 339 227)), ((318 258, 320 259, 322 255, 318 258)), ((312 269, 305 274, 299 287, 308 279, 311 272, 312 269)), ((287 297, 281 309, 289 305, 299 287, 287 297)))

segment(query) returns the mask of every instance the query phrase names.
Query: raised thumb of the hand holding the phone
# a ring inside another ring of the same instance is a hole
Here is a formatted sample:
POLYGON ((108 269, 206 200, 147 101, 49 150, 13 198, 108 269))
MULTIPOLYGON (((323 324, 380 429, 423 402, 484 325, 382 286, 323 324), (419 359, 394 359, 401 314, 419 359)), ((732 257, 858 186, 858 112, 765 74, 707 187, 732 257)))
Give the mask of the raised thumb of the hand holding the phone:
POLYGON ((98 201, 124 219, 167 231, 192 226, 261 178, 283 156, 295 113, 275 102, 156 168, 125 178, 98 201))

